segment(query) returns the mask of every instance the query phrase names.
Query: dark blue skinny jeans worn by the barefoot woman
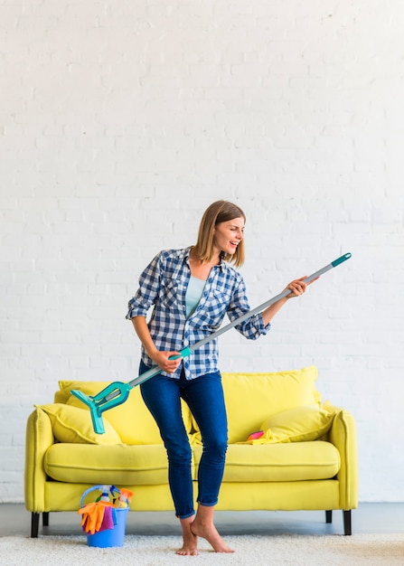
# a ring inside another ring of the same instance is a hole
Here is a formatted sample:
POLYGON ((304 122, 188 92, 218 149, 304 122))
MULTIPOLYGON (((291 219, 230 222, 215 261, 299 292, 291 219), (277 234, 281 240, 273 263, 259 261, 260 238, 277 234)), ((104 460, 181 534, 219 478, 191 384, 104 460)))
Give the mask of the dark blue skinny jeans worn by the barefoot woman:
MULTIPOLYGON (((140 363, 140 373, 147 371, 140 363)), ((192 516, 192 453, 183 425, 181 398, 187 403, 202 435, 202 458, 198 468, 198 497, 201 505, 216 505, 221 488, 227 450, 227 416, 221 373, 208 373, 193 380, 184 374, 174 379, 158 373, 140 385, 142 397, 160 429, 168 456, 168 482, 175 514, 192 516)))

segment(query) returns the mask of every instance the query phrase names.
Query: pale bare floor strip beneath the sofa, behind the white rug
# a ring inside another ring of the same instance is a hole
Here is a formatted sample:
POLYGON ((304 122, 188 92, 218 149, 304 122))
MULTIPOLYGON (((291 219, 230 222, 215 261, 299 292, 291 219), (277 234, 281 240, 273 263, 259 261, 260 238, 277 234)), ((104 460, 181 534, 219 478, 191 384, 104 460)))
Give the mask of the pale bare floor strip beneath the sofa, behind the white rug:
MULTIPOLYGON (((215 523, 222 535, 305 533, 343 534, 343 513, 334 511, 333 524, 325 523, 325 513, 298 512, 217 512, 215 523)), ((403 533, 404 503, 363 503, 352 511, 352 534, 403 533)), ((24 505, 0 504, 0 536, 31 533, 31 514, 24 505)), ((171 512, 129 513, 127 534, 180 534, 178 520, 171 512)), ((40 523, 39 534, 82 534, 80 515, 75 513, 49 514, 49 526, 40 523)))

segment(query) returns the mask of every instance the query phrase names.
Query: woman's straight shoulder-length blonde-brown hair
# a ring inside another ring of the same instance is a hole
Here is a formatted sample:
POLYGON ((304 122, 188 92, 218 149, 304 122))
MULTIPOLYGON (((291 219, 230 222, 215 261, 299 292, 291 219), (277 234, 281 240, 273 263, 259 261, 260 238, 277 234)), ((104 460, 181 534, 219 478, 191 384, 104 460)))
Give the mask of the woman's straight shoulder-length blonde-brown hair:
MULTIPOLYGON (((203 213, 201 224, 199 225, 198 240, 194 246, 195 252, 202 261, 211 261, 213 257, 213 230, 221 222, 229 222, 235 218, 243 218, 246 222, 246 215, 240 206, 229 203, 228 201, 216 201, 203 213)), ((241 240, 234 254, 222 254, 221 259, 233 263, 237 268, 244 263, 244 240, 241 240)))

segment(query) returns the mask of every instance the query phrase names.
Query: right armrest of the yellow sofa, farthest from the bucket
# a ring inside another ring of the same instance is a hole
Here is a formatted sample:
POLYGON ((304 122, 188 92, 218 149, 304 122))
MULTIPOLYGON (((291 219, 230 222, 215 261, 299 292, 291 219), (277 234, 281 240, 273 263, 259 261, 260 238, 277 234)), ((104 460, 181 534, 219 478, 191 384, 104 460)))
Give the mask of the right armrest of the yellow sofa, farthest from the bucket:
POLYGON ((358 505, 356 423, 348 410, 337 407, 329 407, 328 409, 335 410, 329 439, 338 448, 341 456, 341 468, 337 474, 337 479, 340 482, 340 505, 342 509, 355 509, 358 505))

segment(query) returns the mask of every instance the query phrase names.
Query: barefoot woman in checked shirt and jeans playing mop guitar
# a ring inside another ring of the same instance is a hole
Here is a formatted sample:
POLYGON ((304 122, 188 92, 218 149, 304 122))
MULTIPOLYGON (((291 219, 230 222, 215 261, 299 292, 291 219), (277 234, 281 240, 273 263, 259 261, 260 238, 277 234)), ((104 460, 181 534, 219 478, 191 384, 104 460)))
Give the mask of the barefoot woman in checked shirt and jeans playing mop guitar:
MULTIPOLYGON (((183 546, 177 554, 196 555, 198 536, 210 542, 215 552, 233 552, 213 524, 227 450, 217 339, 189 357, 182 359, 178 354, 217 330, 226 314, 232 321, 250 310, 244 280, 231 267, 238 268, 244 261, 245 222, 245 214, 236 204, 212 203, 203 214, 196 244, 157 254, 141 274, 136 295, 129 301, 127 318, 142 343, 140 373, 154 365, 161 368, 161 373, 141 384, 141 392, 167 450, 175 514, 183 529, 183 546), (152 306, 147 323, 146 313, 152 306), (196 514, 191 448, 183 426, 181 398, 202 433, 196 514)), ((267 334, 279 308, 290 297, 304 293, 306 284, 300 278, 287 288, 291 290, 287 297, 237 325, 239 332, 252 340, 267 334)))

